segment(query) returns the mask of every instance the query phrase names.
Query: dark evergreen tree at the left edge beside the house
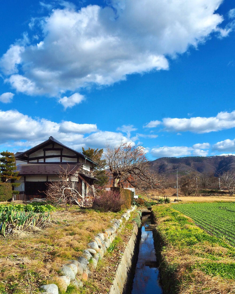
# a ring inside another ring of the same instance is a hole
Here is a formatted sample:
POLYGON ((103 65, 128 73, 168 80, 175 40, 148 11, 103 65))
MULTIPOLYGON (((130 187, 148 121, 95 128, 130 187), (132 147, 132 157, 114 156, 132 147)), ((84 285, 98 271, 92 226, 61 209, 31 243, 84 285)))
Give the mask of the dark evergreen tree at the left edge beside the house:
MULTIPOLYGON (((12 182, 12 187, 18 187, 20 183, 14 183, 14 181, 19 180, 18 172, 16 171, 16 159, 14 153, 9 151, 3 151, 0 153, 0 179, 1 182, 12 182)), ((16 192, 16 193, 15 193, 16 192)), ((19 191, 15 191, 18 194, 19 191)))

